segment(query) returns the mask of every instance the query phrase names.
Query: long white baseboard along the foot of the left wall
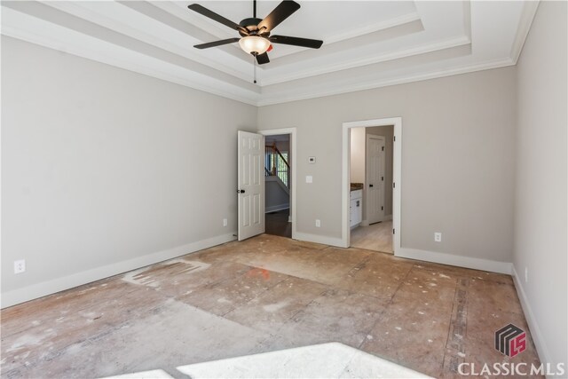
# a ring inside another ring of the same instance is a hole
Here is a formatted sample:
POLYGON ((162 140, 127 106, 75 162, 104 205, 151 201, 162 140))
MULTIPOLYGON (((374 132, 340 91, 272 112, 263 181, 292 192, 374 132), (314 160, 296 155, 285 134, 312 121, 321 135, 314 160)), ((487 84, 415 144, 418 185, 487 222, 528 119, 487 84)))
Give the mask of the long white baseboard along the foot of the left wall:
POLYGON ((136 257, 126 261, 116 262, 112 265, 105 265, 91 270, 77 272, 53 280, 43 281, 28 287, 14 289, 12 291, 2 293, 1 308, 6 308, 15 304, 27 302, 38 297, 54 294, 65 289, 74 288, 92 281, 101 280, 110 276, 118 275, 122 272, 129 272, 146 265, 154 265, 175 257, 184 256, 202 249, 208 249, 213 246, 220 245, 225 242, 234 241, 236 238, 233 233, 219 235, 207 240, 196 241, 177 248, 158 251, 147 254, 143 257, 136 257))

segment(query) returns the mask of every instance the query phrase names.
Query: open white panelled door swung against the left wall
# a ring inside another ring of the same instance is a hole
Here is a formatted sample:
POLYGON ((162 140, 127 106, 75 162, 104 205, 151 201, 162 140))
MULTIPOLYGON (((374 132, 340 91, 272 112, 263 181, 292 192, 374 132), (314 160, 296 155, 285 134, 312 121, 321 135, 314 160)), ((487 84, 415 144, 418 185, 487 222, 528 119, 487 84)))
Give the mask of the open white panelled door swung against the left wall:
POLYGON ((239 130, 239 241, 264 233, 264 136, 239 130))

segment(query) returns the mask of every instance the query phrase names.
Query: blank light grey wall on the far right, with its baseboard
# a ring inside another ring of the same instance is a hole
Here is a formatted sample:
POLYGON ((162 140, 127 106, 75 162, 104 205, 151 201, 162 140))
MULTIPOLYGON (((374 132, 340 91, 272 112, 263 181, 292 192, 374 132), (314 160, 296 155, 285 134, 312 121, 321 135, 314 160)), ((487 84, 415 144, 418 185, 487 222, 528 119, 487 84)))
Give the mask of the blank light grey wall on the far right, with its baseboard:
POLYGON ((518 60, 514 267, 540 359, 568 365, 566 3, 540 2, 518 60), (528 280, 525 281, 525 269, 528 280))

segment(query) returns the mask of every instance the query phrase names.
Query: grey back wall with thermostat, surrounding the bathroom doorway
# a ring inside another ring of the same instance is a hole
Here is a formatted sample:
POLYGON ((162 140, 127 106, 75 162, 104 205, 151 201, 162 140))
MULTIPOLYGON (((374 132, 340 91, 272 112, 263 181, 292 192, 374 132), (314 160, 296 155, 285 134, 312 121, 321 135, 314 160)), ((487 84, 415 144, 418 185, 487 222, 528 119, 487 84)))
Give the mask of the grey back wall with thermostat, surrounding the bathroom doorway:
POLYGON ((341 238, 342 122, 401 116, 402 246, 511 262, 515 112, 507 67, 260 107, 258 124, 298 130, 299 233, 341 238))

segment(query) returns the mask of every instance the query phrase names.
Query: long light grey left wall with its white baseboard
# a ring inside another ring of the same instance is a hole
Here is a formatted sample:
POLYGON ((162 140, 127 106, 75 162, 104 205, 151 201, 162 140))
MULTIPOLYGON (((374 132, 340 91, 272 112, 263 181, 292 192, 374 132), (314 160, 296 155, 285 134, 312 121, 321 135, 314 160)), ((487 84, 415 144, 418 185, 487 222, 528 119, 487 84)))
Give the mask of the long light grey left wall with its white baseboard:
POLYGON ((256 107, 3 36, 3 305, 233 239, 238 129, 256 107))

